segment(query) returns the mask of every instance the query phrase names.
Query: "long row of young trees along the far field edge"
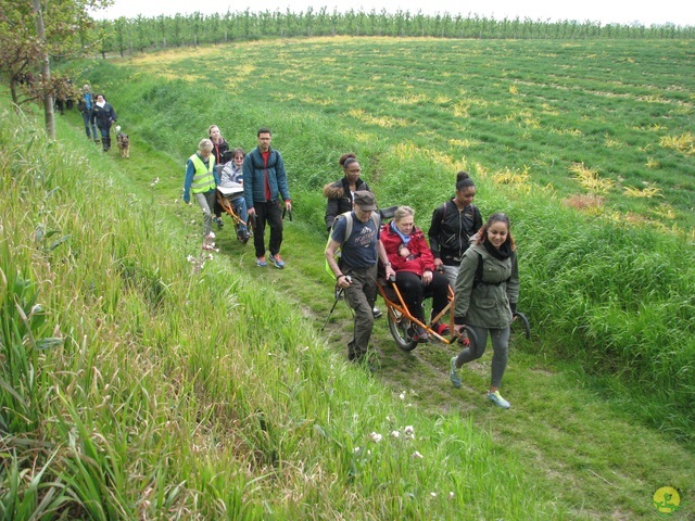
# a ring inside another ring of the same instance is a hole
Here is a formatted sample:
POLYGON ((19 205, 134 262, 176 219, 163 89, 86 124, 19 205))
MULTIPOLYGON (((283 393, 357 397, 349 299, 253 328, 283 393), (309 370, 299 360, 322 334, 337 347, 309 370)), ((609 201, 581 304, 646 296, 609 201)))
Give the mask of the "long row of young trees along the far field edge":
POLYGON ((434 38, 498 39, 585 39, 585 38, 656 38, 692 39, 695 27, 675 24, 644 26, 599 22, 551 22, 531 18, 481 17, 478 15, 425 15, 421 12, 384 10, 348 12, 312 8, 300 13, 281 11, 224 14, 195 12, 189 15, 104 20, 94 27, 99 52, 121 55, 170 47, 225 43, 260 38, 295 38, 317 36, 386 36, 434 38))

